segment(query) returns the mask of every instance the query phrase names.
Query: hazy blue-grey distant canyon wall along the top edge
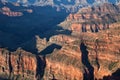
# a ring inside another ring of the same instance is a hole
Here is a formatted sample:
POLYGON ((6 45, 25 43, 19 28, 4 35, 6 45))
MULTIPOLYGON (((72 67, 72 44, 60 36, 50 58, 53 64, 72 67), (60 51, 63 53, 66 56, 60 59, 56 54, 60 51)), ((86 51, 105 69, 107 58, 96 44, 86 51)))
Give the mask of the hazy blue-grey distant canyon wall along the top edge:
MULTIPOLYGON (((6 0, 2 0, 6 2, 6 0)), ((112 3, 118 4, 120 1, 118 0, 14 0, 8 2, 14 2, 22 4, 23 6, 52 6, 56 7, 57 11, 65 9, 67 12, 76 12, 80 8, 88 6, 88 5, 100 5, 103 3, 112 3)))

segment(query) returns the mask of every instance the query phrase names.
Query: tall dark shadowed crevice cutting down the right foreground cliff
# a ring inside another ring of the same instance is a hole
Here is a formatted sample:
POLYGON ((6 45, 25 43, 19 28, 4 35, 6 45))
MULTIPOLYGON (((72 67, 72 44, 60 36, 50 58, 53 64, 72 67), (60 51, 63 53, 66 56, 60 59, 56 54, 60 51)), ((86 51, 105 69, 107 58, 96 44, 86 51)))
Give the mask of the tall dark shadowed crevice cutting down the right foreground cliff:
POLYGON ((83 80, 94 80, 94 68, 90 64, 89 59, 88 59, 88 51, 86 45, 82 42, 80 44, 80 50, 81 50, 81 59, 82 59, 82 64, 85 66, 84 67, 84 73, 83 73, 83 80), (87 69, 86 69, 87 68, 87 69))

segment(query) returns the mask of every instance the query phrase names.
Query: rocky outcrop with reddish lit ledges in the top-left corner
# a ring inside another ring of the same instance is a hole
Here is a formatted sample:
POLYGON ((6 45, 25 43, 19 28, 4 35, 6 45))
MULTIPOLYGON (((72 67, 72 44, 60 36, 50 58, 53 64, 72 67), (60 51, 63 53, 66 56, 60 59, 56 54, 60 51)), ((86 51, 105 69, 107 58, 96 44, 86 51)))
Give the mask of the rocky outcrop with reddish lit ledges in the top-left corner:
POLYGON ((21 9, 20 4, 18 3, 8 3, 8 2, 0 1, 0 5, 1 5, 0 13, 9 17, 20 17, 24 15, 24 12, 27 12, 27 13, 33 12, 32 9, 27 9, 27 8, 21 9))

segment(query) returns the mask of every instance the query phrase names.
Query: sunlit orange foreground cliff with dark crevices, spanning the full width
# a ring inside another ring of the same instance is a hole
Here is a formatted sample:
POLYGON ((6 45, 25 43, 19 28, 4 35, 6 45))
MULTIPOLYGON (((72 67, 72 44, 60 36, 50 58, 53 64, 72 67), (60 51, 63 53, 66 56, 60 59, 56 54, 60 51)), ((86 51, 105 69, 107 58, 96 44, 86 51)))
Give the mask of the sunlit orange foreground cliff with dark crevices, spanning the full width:
POLYGON ((116 76, 112 73, 120 68, 120 23, 113 26, 96 34, 82 33, 79 38, 56 35, 50 42, 61 44, 62 48, 51 48, 51 52, 47 46, 39 56, 22 49, 10 52, 1 48, 0 77, 12 80, 119 80, 119 72, 116 76))

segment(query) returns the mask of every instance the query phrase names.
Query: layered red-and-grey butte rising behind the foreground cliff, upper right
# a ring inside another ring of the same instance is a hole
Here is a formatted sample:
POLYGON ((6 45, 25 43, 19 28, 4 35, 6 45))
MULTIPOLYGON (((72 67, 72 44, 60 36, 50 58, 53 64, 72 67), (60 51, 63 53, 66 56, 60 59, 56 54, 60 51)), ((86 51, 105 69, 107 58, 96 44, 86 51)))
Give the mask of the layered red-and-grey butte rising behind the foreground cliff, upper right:
POLYGON ((106 30, 110 28, 112 23, 119 21, 119 8, 117 5, 108 3, 85 7, 75 14, 70 14, 60 26, 73 33, 106 30))

